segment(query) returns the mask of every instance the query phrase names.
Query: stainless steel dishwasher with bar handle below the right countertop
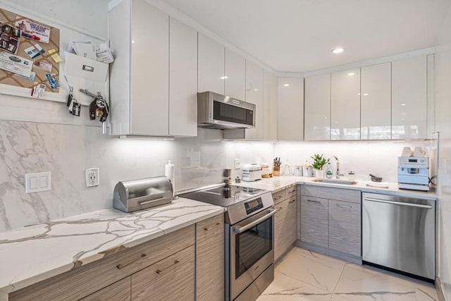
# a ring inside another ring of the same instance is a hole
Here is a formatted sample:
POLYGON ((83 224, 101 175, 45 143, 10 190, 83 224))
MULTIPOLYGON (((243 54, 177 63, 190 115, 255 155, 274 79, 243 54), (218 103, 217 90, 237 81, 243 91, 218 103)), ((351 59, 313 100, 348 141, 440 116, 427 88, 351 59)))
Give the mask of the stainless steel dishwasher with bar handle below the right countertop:
POLYGON ((362 260, 435 279, 435 201, 363 193, 362 260))

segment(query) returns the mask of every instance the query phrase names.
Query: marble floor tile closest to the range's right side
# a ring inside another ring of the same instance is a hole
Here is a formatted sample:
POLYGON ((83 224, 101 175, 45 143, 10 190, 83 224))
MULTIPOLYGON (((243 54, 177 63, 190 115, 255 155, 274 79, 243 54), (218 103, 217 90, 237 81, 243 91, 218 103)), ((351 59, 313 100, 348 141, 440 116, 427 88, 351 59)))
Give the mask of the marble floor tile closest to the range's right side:
POLYGON ((293 250, 276 266, 276 271, 332 293, 346 262, 303 250, 293 250))

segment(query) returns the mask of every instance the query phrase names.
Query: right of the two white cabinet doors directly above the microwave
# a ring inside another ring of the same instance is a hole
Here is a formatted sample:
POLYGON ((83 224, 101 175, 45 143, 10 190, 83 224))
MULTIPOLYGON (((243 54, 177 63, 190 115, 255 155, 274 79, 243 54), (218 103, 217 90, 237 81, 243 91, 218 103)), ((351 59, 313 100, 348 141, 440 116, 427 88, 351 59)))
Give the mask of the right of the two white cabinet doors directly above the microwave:
POLYGON ((246 59, 228 48, 226 48, 225 57, 225 94, 244 100, 246 97, 246 59))

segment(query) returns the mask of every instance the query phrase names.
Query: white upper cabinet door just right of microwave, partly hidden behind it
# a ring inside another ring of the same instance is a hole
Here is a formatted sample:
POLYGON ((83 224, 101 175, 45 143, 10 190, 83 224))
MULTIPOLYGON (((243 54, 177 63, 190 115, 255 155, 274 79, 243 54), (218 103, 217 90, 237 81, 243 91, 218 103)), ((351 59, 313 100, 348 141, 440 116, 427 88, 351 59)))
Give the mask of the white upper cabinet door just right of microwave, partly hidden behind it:
POLYGON ((255 104, 255 128, 246 130, 247 139, 263 139, 263 69, 246 61, 246 102, 255 104))

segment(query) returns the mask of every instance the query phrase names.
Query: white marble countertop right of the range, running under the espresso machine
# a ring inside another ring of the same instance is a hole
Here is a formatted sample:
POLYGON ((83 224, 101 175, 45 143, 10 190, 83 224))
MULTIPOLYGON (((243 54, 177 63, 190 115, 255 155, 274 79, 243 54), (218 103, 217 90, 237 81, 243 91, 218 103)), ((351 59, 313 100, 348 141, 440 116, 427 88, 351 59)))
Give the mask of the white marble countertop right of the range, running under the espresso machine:
POLYGON ((438 199, 435 190, 429 192, 415 191, 415 190, 403 190, 398 188, 397 183, 388 183, 388 188, 375 188, 369 187, 367 184, 375 183, 368 180, 356 180, 356 185, 343 185, 343 184, 333 184, 333 183, 318 183, 314 182, 315 178, 307 177, 297 177, 297 176, 277 176, 273 178, 262 178, 254 182, 244 182, 235 184, 239 186, 245 186, 250 188, 259 188, 270 190, 271 192, 278 192, 285 188, 288 188, 297 184, 306 185, 319 185, 323 187, 335 187, 335 188, 345 188, 353 190, 361 190, 362 192, 372 192, 380 193, 383 195, 397 195, 400 197, 420 197, 422 199, 438 199))

